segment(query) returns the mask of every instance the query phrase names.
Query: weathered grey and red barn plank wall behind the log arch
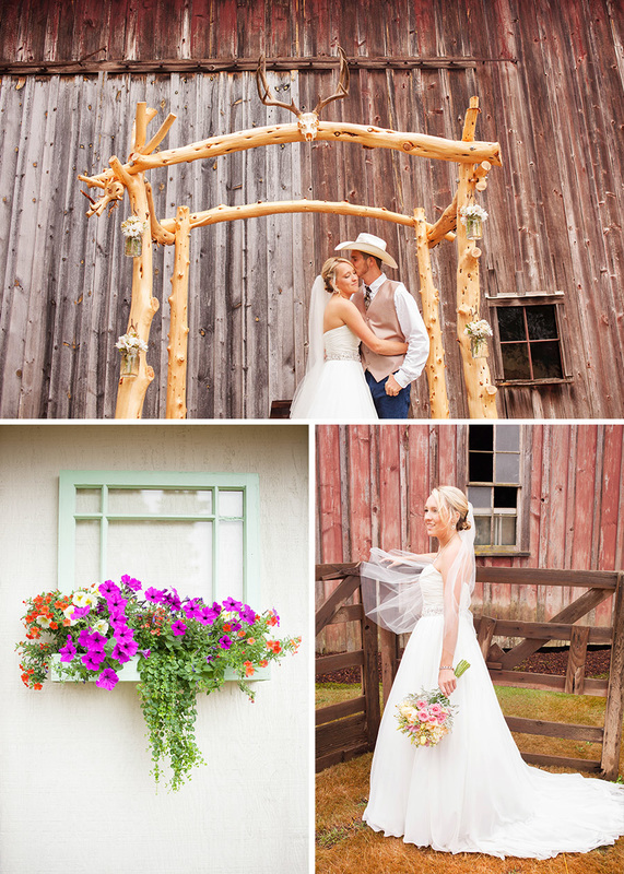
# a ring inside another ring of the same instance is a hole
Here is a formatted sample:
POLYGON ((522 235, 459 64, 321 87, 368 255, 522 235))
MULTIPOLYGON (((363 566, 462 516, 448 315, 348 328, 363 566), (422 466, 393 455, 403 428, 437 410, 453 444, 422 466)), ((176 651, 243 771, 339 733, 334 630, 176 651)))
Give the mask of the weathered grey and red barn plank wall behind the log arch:
MULTIPOLYGON (((457 139, 471 95, 478 138, 498 140, 480 201, 490 213, 482 291, 565 293, 572 383, 504 388, 508 417, 613 418, 624 414, 622 3, 613 0, 22 0, 3 4, 0 62, 128 61, 328 56, 467 58, 456 69, 354 68, 345 101, 323 117, 457 139), (382 10, 382 14, 380 14, 382 10), (469 23, 469 24, 467 24, 469 23)), ((335 70, 269 71, 272 86, 310 108, 335 70)), ((126 330, 131 264, 119 222, 86 220, 79 173, 126 160, 137 101, 178 118, 163 147, 270 122, 251 72, 4 75, 0 83, 0 414, 111 416, 114 344, 126 330)), ((158 123, 152 122, 152 128, 158 123)), ((151 128, 151 129, 152 129, 151 128)), ((435 222, 456 167, 390 150, 318 142, 257 149, 152 172, 156 210, 301 197, 348 199, 435 222)), ((191 417, 262 417, 292 398, 305 368, 307 304, 320 264, 361 229, 388 240, 417 295, 413 232, 339 215, 281 215, 192 232, 188 410, 191 417)), ((440 290, 454 418, 468 415, 455 339, 456 252, 432 251, 440 290)), ((149 363, 156 378, 144 416, 165 411, 173 252, 155 252, 149 363)), ((395 274, 392 274, 395 275, 395 274)), ((493 320, 495 314, 484 317, 493 320)), ((426 380, 414 389, 428 417, 426 380)), ((562 500, 565 494, 562 492, 562 500)), ((554 544, 553 544, 553 547, 554 544)))

